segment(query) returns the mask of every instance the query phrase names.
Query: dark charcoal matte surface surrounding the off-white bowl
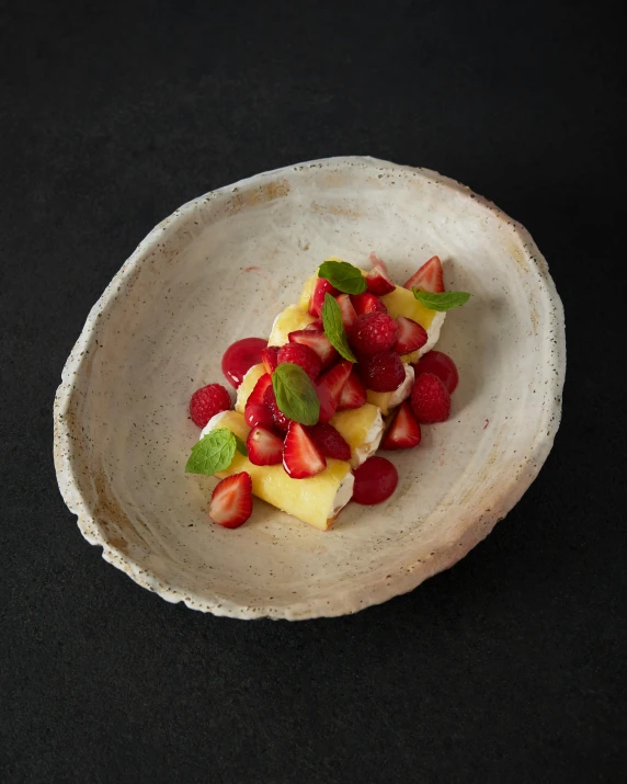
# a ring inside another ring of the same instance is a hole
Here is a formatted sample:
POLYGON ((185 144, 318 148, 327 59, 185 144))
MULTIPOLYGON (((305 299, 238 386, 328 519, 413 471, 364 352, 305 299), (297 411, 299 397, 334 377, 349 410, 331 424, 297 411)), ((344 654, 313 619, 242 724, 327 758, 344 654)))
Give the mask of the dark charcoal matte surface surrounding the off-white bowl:
POLYGON ((0 2, 3 783, 625 774, 617 20, 602 2, 0 2), (529 229, 566 306, 555 450, 485 543, 381 606, 288 624, 167 604, 61 501, 61 367, 176 206, 344 154, 436 169, 529 229))

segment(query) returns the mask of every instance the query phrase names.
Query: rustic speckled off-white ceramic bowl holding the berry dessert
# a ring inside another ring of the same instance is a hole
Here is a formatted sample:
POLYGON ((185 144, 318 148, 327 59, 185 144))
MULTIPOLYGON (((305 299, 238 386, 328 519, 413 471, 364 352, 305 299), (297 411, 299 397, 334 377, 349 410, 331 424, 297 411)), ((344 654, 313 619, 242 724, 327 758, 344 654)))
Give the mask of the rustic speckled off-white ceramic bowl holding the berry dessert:
POLYGON ((168 601, 240 618, 352 613, 459 560, 521 498, 557 431, 563 311, 525 229, 433 171, 330 158, 259 174, 155 228, 91 310, 55 401, 59 487, 88 542, 168 601), (223 382, 239 338, 266 337, 324 257, 397 282, 437 253, 448 288, 438 349, 460 383, 451 420, 389 454, 399 486, 320 532, 255 500, 237 531, 209 522, 215 480, 183 471, 191 394, 223 382))

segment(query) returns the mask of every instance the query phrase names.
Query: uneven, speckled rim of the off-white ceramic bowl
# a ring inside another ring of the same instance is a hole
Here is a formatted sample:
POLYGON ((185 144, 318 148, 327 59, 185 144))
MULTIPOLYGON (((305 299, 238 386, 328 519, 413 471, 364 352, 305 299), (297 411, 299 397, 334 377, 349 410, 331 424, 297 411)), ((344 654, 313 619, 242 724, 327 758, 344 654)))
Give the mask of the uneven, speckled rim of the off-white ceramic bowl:
POLYGON ((183 601, 189 607, 209 612, 214 615, 223 615, 238 618, 285 618, 285 620, 307 620, 315 617, 332 617, 345 615, 364 610, 367 606, 379 604, 396 595, 400 595, 417 588, 421 582, 433 575, 443 571, 460 560, 483 539, 502 520, 511 509, 517 503, 523 493, 529 488, 544 465, 555 440, 561 419, 561 396, 566 375, 566 331, 565 315, 561 299, 549 273, 548 264, 534 242, 529 232, 515 219, 506 215, 488 198, 472 192, 468 186, 440 174, 436 171, 420 167, 411 167, 394 163, 386 160, 373 158, 371 156, 338 156, 321 158, 303 163, 281 167, 270 171, 261 172, 252 177, 244 178, 230 185, 209 191, 196 198, 193 198, 170 216, 161 220, 137 246, 126 262, 122 265, 113 280, 100 296, 95 305, 91 308, 81 333, 72 348, 61 373, 61 383, 57 388, 54 402, 54 461, 59 490, 68 509, 77 515, 77 523, 82 536, 93 545, 102 547, 102 557, 116 568, 124 571, 139 586, 153 591, 169 602, 183 601), (164 238, 166 230, 172 230, 179 224, 186 220, 197 204, 203 201, 213 200, 221 194, 232 194, 239 189, 250 184, 259 184, 264 180, 272 180, 277 175, 287 172, 303 171, 311 168, 334 168, 344 166, 360 166, 362 168, 375 168, 380 171, 395 170, 407 171, 413 175, 423 177, 426 180, 436 182, 445 189, 457 192, 464 196, 471 197, 476 204, 489 211, 493 217, 508 225, 510 231, 517 235, 522 251, 526 262, 538 273, 545 294, 548 295, 549 313, 547 314, 547 328, 544 339, 552 336, 552 359, 554 370, 549 378, 551 394, 547 396, 552 400, 552 406, 547 406, 544 412, 543 427, 539 427, 534 441, 529 447, 527 464, 533 465, 533 469, 526 474, 513 477, 509 484, 504 484, 499 492, 497 501, 492 501, 490 511, 483 514, 477 512, 470 524, 460 531, 459 537, 452 539, 447 547, 437 552, 428 561, 415 564, 415 568, 404 569, 391 581, 385 581, 377 586, 375 590, 364 595, 363 587, 351 588, 351 583, 343 586, 341 600, 334 604, 328 604, 322 598, 319 599, 297 599, 294 604, 242 606, 241 604, 226 600, 214 593, 213 595, 191 595, 189 592, 164 584, 156 575, 147 571, 140 564, 136 563, 127 554, 118 549, 115 544, 109 542, 102 532, 98 519, 92 514, 89 503, 80 491, 80 484, 75 474, 71 461, 71 450, 69 444, 72 440, 71 422, 66 417, 75 382, 78 379, 82 366, 82 357, 89 352, 95 338, 100 315, 111 305, 121 285, 133 275, 135 269, 142 259, 153 249, 158 242, 164 238))

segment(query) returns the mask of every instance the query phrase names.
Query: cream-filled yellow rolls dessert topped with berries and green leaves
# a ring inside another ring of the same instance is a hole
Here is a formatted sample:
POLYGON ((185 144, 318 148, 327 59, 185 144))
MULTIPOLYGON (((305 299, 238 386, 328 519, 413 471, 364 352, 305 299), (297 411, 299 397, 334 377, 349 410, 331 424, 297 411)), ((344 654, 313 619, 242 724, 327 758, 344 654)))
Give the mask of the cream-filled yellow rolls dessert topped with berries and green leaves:
POLYGON ((421 425, 448 419, 457 368, 433 346, 469 296, 445 291, 436 255, 402 286, 375 253, 367 270, 326 259, 267 341, 225 352, 235 406, 221 384, 192 396, 202 432, 185 469, 220 480, 209 518, 239 527, 255 496, 326 531, 350 501, 387 500, 397 469, 375 453, 414 448, 421 425))

